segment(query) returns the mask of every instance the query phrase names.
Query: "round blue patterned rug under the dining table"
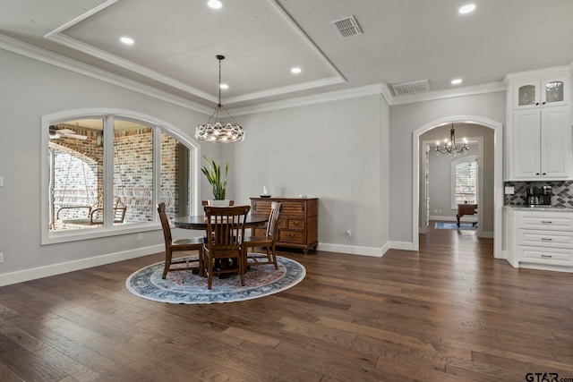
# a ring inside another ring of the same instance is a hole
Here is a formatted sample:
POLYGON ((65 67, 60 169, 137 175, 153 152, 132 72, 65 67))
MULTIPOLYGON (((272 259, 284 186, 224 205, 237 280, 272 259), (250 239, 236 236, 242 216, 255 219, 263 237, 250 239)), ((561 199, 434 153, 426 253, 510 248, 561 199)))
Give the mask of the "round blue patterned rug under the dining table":
POLYGON ((125 286, 143 299, 175 304, 251 300, 279 293, 303 281, 306 269, 302 264, 281 256, 277 257, 277 263, 278 270, 272 265, 250 267, 244 274, 244 286, 237 275, 223 279, 214 276, 212 288, 208 290, 207 278, 192 274, 191 270, 169 272, 163 280, 165 262, 161 261, 133 273, 125 286))

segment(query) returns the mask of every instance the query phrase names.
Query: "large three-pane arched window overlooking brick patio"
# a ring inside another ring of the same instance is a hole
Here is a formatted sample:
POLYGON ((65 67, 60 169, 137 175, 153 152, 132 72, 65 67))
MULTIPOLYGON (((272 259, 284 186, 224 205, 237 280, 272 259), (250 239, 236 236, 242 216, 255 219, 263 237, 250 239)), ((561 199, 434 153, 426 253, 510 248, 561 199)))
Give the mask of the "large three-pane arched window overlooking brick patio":
POLYGON ((196 212, 199 148, 167 123, 71 112, 42 118, 42 138, 43 244, 157 229, 158 202, 196 212))

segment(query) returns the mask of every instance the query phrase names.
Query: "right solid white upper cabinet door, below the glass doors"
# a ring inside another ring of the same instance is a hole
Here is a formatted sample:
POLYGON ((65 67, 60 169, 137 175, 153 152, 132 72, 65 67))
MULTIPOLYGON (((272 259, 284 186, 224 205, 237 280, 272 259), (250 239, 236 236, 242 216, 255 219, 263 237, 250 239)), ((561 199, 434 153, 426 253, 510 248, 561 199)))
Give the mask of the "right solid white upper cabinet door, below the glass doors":
POLYGON ((568 178, 571 173, 571 132, 567 107, 541 110, 541 170, 547 178, 568 178))

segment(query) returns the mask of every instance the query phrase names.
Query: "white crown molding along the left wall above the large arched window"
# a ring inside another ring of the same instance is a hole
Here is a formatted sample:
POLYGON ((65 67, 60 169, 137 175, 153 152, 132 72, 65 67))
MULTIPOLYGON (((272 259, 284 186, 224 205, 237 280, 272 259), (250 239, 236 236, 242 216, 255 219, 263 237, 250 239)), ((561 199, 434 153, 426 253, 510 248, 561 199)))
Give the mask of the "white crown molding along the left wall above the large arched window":
POLYGON ((74 60, 73 58, 65 57, 64 55, 58 55, 47 51, 46 49, 34 47, 33 45, 21 42, 20 40, 3 34, 0 34, 0 49, 4 49, 17 55, 23 55, 70 72, 76 72, 99 81, 111 83, 124 89, 133 90, 137 93, 157 98, 177 106, 182 106, 186 109, 190 109, 204 115, 211 115, 213 112, 212 107, 203 106, 188 99, 174 96, 166 91, 158 90, 148 85, 143 85, 138 81, 126 79, 117 74, 95 68, 90 64, 84 64, 80 61, 74 60))

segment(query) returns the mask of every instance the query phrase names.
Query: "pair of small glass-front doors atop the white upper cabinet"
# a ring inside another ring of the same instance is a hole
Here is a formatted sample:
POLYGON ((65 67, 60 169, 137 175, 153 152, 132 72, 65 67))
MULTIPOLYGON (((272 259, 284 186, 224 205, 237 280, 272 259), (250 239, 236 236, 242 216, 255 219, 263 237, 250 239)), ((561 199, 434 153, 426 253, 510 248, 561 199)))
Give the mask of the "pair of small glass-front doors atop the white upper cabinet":
POLYGON ((565 105, 565 83, 564 77, 516 81, 514 109, 565 105))

